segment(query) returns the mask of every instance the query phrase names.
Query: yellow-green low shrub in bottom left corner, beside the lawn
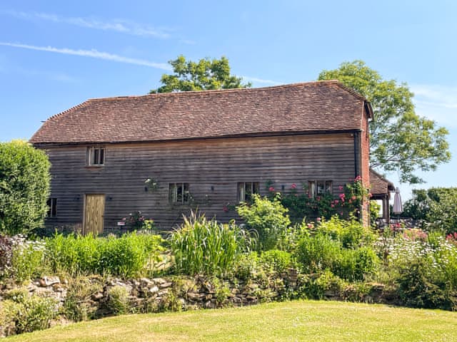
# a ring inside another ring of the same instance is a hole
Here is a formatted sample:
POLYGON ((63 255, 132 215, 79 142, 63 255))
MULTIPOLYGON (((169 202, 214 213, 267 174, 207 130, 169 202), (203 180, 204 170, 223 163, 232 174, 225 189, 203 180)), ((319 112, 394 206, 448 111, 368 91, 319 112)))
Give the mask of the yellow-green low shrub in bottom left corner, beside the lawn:
POLYGON ((51 320, 58 314, 57 302, 46 296, 29 295, 22 291, 18 296, 9 296, 2 302, 0 326, 7 327, 6 333, 27 333, 49 328, 51 320))

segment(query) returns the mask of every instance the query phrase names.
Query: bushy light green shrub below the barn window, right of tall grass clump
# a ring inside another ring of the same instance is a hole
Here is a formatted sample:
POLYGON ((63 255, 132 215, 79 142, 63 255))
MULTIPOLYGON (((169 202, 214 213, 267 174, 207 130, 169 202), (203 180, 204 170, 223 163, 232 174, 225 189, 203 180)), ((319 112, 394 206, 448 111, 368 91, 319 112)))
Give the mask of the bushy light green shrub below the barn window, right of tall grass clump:
POLYGON ((286 214, 278 197, 269 200, 267 197, 252 195, 252 203, 241 203, 236 207, 238 215, 246 222, 249 229, 258 234, 258 250, 266 251, 276 247, 281 234, 287 229, 291 220, 286 214))

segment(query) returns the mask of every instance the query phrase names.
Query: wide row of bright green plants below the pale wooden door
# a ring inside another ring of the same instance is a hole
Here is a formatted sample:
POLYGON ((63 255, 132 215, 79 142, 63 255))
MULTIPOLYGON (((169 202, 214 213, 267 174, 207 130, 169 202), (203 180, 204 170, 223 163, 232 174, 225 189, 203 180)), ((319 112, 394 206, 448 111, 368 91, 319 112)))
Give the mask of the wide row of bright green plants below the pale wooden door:
POLYGON ((56 234, 46 239, 46 253, 54 272, 130 277, 144 274, 148 263, 160 260, 161 242, 158 235, 136 232, 119 238, 56 234))

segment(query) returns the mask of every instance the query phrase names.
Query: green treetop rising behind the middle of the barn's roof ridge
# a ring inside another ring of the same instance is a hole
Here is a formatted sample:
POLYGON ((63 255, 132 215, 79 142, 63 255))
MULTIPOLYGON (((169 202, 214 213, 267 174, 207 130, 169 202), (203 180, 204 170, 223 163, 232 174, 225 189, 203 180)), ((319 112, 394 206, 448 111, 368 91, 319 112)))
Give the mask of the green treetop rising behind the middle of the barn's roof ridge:
POLYGON ((161 77, 163 86, 149 93, 171 93, 173 91, 214 90, 231 88, 250 88, 251 83, 241 83, 243 79, 230 75, 229 60, 201 58, 198 62, 186 61, 184 56, 178 56, 169 61, 174 74, 164 73, 161 77))

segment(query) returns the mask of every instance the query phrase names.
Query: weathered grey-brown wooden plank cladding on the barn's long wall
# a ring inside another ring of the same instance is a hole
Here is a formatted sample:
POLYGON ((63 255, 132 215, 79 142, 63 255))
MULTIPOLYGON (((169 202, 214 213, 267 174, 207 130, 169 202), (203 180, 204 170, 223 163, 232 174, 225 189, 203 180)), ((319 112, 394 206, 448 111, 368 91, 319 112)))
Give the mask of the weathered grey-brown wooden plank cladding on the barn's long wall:
MULTIPOLYGON (((351 133, 101 144, 104 166, 88 167, 87 148, 92 146, 46 147, 52 165, 51 197, 57 199, 56 217, 46 219, 46 226, 81 227, 88 206, 104 206, 105 230, 116 228, 116 222, 136 210, 160 229, 171 229, 196 207, 207 217, 227 222, 239 219, 236 212, 224 211, 228 204, 237 204, 238 182, 259 182, 265 194, 267 181, 287 192, 293 183, 300 190, 301 183, 331 180, 337 193, 354 177, 351 133), (156 190, 146 187, 148 178, 158 182, 156 190), (169 202, 170 183, 189 184, 189 203, 169 202), (94 194, 104 194, 104 202, 90 197, 94 194)), ((86 216, 86 222, 92 217, 86 216)), ((91 230, 100 232, 103 226, 91 230)))

